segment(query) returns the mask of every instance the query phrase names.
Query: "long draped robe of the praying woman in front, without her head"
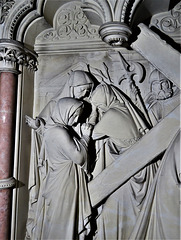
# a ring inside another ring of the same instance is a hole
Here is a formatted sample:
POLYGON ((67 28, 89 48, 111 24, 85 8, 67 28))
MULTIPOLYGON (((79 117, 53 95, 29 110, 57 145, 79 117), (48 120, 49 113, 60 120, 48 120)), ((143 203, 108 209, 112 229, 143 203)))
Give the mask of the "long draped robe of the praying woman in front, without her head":
POLYGON ((37 226, 36 232, 35 226, 34 239, 81 239, 91 214, 85 173, 76 163, 87 159, 85 146, 60 126, 45 131, 44 144, 48 165, 42 194, 45 213, 43 223, 36 220, 42 227, 37 226))

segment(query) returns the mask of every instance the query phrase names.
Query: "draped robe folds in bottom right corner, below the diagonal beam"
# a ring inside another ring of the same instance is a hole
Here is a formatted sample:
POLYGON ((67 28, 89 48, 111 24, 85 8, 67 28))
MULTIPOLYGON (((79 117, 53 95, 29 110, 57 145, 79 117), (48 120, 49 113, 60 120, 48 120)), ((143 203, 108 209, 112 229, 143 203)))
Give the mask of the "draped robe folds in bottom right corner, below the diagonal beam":
POLYGON ((129 239, 180 239, 180 130, 166 150, 129 239))

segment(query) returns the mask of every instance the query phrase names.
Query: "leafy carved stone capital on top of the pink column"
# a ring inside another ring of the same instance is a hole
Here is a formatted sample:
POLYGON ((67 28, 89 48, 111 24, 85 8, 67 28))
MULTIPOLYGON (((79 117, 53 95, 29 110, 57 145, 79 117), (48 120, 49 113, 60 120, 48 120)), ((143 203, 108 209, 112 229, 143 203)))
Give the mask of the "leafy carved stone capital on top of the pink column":
POLYGON ((19 66, 23 65, 30 70, 37 70, 37 55, 21 42, 0 39, 0 72, 19 74, 19 66))

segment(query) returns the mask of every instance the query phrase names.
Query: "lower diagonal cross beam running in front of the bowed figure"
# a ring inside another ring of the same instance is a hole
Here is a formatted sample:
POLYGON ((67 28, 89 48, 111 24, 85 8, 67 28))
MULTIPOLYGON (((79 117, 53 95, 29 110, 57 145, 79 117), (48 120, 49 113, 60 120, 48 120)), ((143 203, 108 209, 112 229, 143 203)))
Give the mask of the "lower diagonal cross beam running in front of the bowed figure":
POLYGON ((165 151, 179 130, 179 110, 180 106, 89 182, 88 188, 93 207, 165 151))

